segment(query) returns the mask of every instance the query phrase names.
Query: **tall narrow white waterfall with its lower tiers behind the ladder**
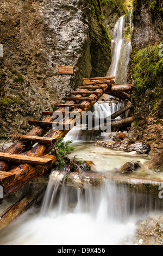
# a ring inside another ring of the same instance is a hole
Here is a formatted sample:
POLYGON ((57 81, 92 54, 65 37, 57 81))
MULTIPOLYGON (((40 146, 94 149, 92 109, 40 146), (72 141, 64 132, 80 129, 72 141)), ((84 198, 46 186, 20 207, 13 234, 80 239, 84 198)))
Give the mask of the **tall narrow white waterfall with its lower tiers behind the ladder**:
MULTIPOLYGON (((118 84, 127 83, 127 68, 131 52, 131 28, 132 28, 132 15, 133 8, 131 8, 130 13, 126 16, 121 16, 116 22, 114 27, 114 36, 112 40, 112 62, 108 71, 107 76, 115 76, 115 82, 118 84), (129 40, 124 38, 125 31, 129 28, 129 40)), ((124 107, 124 102, 107 102, 99 103, 96 102, 92 107, 92 112, 95 112, 95 117, 106 118, 111 114, 119 111, 124 107)), ((116 119, 121 119, 118 117, 116 119)), ((104 136, 108 139, 107 136, 104 136)), ((82 131, 80 125, 73 127, 73 129, 68 132, 65 140, 73 141, 91 141, 93 135, 87 135, 86 131, 82 131)))

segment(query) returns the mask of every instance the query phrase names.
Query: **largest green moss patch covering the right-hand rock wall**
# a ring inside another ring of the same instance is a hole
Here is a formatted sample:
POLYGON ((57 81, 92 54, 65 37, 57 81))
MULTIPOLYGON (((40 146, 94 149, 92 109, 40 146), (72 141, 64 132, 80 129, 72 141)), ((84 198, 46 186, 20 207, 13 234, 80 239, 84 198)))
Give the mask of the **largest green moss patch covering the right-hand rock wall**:
MULTIPOLYGON (((131 53, 131 74, 135 83, 134 99, 141 105, 140 109, 143 109, 142 112, 146 116, 149 113, 156 113, 158 117, 161 115, 159 109, 163 93, 163 57, 159 56, 159 46, 160 44, 148 45, 131 53)), ((139 118, 139 114, 136 118, 139 118)))

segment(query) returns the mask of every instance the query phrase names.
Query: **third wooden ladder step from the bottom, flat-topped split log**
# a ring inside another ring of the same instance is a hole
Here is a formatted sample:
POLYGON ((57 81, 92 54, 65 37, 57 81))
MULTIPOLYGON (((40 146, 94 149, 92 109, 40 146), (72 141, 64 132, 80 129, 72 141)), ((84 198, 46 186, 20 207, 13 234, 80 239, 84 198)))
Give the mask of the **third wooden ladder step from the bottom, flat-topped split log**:
POLYGON ((56 139, 48 137, 37 137, 28 135, 11 135, 10 137, 14 140, 20 139, 20 141, 31 141, 43 144, 54 144, 56 142, 56 139))

